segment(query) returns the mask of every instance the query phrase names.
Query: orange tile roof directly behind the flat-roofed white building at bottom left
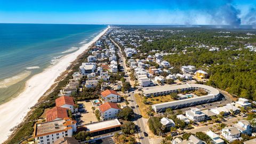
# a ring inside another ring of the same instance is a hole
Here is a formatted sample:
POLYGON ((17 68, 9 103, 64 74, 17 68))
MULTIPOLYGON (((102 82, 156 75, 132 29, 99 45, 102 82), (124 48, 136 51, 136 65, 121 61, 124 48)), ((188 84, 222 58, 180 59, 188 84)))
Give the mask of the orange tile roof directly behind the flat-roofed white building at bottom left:
POLYGON ((51 122, 56 118, 68 117, 67 108, 54 107, 46 111, 46 122, 51 122))

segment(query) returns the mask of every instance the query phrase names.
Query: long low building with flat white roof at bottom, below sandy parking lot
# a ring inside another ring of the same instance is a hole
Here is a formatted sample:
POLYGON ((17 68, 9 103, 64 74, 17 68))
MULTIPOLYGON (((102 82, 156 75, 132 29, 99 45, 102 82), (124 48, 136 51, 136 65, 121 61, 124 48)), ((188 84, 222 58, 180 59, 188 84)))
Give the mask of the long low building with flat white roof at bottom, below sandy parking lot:
POLYGON ((96 136, 121 130, 121 123, 118 119, 110 119, 108 121, 86 124, 85 128, 87 132, 96 136))

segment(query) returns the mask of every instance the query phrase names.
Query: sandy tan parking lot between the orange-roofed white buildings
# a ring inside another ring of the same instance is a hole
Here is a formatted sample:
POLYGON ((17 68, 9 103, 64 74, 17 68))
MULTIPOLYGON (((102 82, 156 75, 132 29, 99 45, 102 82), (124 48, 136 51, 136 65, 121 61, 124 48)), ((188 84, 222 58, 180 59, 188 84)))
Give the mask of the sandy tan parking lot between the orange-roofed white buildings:
POLYGON ((91 122, 98 122, 97 117, 93 113, 92 110, 92 103, 91 101, 79 101, 78 105, 83 105, 83 108, 85 109, 84 112, 81 112, 81 117, 78 118, 78 120, 82 121, 82 124, 87 124, 91 122))

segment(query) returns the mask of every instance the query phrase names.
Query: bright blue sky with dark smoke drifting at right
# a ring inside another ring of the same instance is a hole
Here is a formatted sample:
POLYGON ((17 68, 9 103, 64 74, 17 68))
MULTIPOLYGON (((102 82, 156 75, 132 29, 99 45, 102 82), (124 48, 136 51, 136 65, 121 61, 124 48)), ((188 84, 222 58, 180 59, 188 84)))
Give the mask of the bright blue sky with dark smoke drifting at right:
POLYGON ((0 0, 0 23, 254 25, 255 0, 0 0))

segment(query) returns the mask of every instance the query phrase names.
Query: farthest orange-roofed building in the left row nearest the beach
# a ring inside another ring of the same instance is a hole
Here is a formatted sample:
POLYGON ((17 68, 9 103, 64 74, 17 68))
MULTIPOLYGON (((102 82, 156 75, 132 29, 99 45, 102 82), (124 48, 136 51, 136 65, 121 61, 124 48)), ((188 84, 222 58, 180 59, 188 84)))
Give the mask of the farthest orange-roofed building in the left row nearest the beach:
POLYGON ((68 108, 71 110, 72 113, 77 111, 77 109, 74 107, 75 103, 72 97, 68 97, 68 96, 59 97, 58 99, 55 99, 55 103, 57 107, 68 108))

